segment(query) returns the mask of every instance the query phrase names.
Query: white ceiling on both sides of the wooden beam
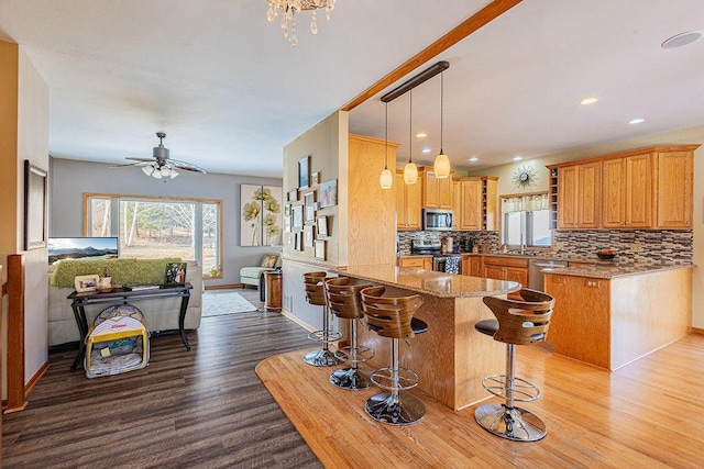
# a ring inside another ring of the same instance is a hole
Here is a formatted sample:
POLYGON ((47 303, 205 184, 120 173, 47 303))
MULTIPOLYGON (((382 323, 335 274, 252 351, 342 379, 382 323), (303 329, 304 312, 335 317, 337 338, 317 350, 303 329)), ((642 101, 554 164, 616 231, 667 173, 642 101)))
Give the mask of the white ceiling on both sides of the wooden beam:
MULTIPOLYGON (((19 43, 50 87, 55 157, 151 157, 163 131, 174 159, 280 177, 284 145, 487 3, 338 0, 329 22, 318 14, 318 35, 301 14, 292 49, 265 0, 0 0, 0 38, 19 43)), ((410 75, 450 63, 444 150, 454 167, 480 169, 703 125, 704 40, 660 47, 702 29, 702 0, 524 0, 410 75), (587 96, 600 101, 580 105, 587 96)), ((388 104, 399 160, 408 104, 408 93, 388 104)), ((413 112, 414 134, 429 135, 414 138, 414 160, 429 164, 439 76, 414 90, 413 112)), ((351 111, 350 130, 384 137, 378 96, 351 111)))

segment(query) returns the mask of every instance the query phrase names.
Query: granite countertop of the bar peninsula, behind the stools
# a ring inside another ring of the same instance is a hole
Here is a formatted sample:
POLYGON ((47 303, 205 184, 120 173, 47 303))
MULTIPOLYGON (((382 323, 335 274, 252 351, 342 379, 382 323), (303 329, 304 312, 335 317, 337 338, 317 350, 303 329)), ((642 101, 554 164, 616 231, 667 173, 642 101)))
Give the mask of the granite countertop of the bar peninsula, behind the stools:
POLYGON ((334 270, 342 276, 443 298, 487 297, 517 291, 520 283, 457 276, 411 267, 354 266, 334 270))

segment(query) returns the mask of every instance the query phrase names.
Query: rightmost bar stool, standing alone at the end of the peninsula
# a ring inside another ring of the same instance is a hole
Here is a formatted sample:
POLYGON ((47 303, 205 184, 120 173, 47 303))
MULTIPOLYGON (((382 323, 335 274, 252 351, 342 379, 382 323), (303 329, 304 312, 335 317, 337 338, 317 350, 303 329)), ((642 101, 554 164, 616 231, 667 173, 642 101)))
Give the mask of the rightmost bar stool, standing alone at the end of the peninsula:
POLYGON ((505 399, 503 404, 484 404, 474 411, 474 418, 484 429, 514 442, 537 442, 546 436, 546 424, 514 402, 531 402, 540 390, 525 379, 516 378, 516 345, 531 345, 544 340, 552 316, 554 300, 546 293, 522 289, 525 301, 484 297, 496 320, 480 321, 474 325, 482 334, 506 344, 506 375, 493 375, 482 380, 492 394, 505 399))

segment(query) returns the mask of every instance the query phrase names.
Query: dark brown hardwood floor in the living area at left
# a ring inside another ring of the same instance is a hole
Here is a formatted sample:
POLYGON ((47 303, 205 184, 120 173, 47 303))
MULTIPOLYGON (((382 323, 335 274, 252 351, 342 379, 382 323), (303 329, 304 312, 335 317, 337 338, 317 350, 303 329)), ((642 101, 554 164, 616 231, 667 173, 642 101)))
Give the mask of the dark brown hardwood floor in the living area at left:
POLYGON ((188 337, 190 351, 155 337, 145 369, 92 380, 68 370, 73 351, 51 354, 29 407, 3 416, 2 467, 320 467, 254 372, 311 348, 305 330, 256 311, 204 317, 188 337))

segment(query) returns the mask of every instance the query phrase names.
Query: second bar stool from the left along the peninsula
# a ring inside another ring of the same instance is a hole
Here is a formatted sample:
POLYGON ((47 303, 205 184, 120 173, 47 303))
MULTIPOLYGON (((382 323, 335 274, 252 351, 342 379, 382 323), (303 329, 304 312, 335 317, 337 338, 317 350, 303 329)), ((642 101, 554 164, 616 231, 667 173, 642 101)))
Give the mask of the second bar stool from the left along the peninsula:
POLYGON ((338 348, 336 357, 352 366, 341 368, 330 375, 330 382, 341 389, 366 389, 370 382, 359 372, 359 364, 374 357, 374 350, 360 347, 356 340, 356 323, 364 317, 360 291, 369 283, 354 283, 349 277, 333 277, 326 280, 326 292, 330 310, 340 319, 350 322, 350 345, 338 348))

